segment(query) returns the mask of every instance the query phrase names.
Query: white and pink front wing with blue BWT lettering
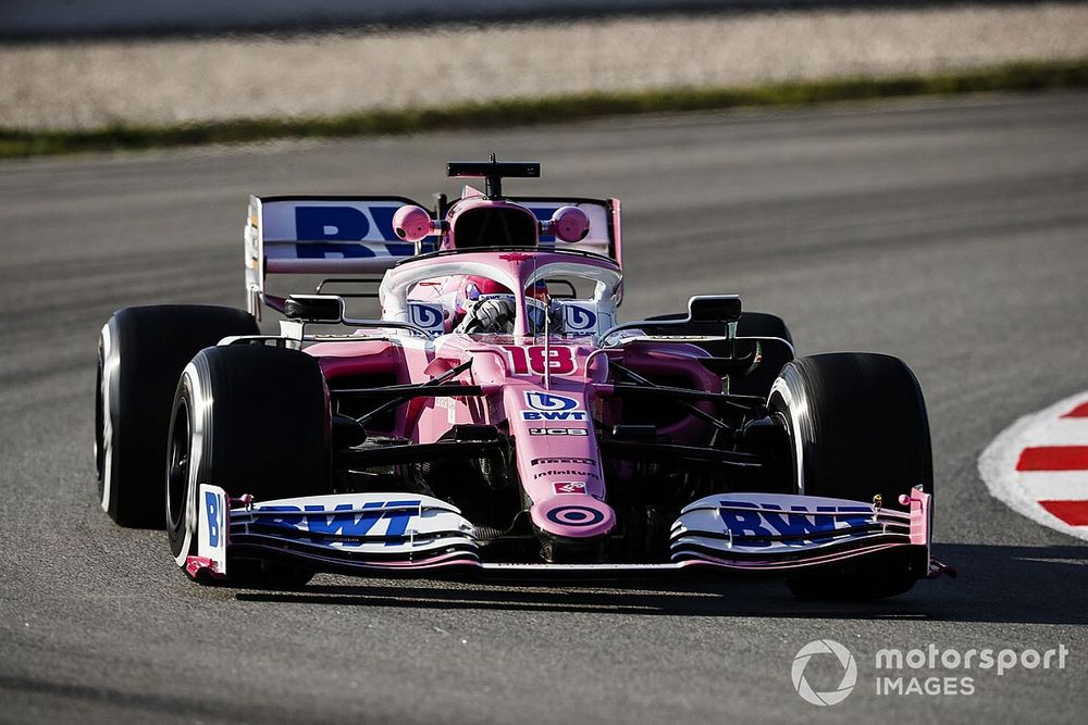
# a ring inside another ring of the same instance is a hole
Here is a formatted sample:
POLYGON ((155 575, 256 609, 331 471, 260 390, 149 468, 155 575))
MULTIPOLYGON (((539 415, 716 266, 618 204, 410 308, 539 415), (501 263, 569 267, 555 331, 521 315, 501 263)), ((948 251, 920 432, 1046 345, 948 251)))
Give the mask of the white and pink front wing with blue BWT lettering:
MULTIPOLYGON (((280 560, 316 572, 631 574, 707 566, 790 573, 892 550, 916 558, 918 571, 945 568, 930 559, 929 493, 899 498, 905 510, 778 493, 721 493, 689 504, 672 524, 670 561, 645 564, 546 564, 481 561, 477 528, 460 511, 416 493, 348 493, 254 502, 223 489, 199 489, 198 551, 193 577, 227 576, 232 558, 280 560)), ((482 535, 482 533, 481 533, 482 535)))

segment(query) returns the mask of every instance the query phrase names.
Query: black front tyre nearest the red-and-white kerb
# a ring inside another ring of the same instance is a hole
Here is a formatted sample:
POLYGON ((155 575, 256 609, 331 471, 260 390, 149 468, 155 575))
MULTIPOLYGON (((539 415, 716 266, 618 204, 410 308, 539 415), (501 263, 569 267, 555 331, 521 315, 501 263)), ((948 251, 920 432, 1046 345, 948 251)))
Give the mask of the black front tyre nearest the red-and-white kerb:
MULTIPOLYGON (((794 490, 899 508, 922 485, 934 492, 926 402, 902 360, 869 353, 799 358, 771 388, 768 408, 789 433, 794 490)), ((890 553, 843 562, 787 580, 806 599, 876 599, 902 593, 925 562, 890 553)))

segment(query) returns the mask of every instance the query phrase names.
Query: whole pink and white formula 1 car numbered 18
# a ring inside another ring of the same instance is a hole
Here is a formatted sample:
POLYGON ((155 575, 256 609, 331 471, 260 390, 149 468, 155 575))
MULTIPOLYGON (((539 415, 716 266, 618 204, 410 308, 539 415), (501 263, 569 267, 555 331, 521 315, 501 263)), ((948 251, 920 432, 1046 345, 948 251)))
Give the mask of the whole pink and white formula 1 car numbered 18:
POLYGON ((617 323, 618 201, 503 195, 536 163, 447 171, 485 189, 434 212, 254 197, 248 312, 110 318, 96 451, 114 521, 164 523, 198 582, 698 567, 871 598, 940 573, 902 361, 794 358, 781 320, 728 295, 617 323), (353 316, 359 298, 380 317, 353 316))

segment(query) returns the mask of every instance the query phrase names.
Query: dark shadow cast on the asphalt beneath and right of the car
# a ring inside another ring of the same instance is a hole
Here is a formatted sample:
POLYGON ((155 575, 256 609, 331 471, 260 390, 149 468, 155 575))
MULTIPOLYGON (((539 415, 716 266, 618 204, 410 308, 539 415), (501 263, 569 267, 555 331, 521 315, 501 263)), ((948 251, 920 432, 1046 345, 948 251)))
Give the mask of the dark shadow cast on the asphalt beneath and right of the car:
POLYGON ((692 575, 614 582, 353 579, 295 591, 239 591, 239 601, 413 609, 1088 624, 1088 547, 935 546, 961 575, 919 582, 875 602, 803 601, 778 579, 692 575), (343 584, 342 584, 343 583, 343 584))

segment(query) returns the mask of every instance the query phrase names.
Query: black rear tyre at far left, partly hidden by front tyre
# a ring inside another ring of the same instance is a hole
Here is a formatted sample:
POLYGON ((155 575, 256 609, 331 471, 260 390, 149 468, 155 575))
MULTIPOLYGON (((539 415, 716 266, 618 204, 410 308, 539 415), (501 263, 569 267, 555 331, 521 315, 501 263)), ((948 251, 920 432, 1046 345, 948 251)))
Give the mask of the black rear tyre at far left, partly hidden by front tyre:
POLYGON ((186 363, 232 335, 257 335, 251 315, 194 304, 125 308, 98 341, 95 464, 98 500, 122 526, 162 527, 162 454, 170 403, 186 363))

